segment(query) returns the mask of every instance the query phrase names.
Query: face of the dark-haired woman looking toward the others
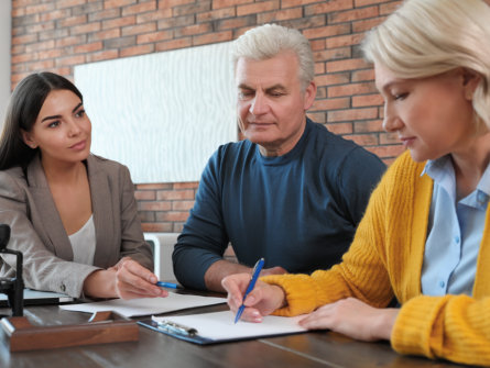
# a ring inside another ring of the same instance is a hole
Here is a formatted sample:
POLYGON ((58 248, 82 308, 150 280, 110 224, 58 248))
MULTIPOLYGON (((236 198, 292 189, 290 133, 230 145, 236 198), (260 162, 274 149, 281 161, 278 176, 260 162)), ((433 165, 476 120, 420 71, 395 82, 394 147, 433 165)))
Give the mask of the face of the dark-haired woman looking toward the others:
POLYGON ((51 91, 31 132, 22 135, 28 146, 41 149, 43 161, 76 163, 90 153, 90 120, 79 97, 69 90, 51 91))

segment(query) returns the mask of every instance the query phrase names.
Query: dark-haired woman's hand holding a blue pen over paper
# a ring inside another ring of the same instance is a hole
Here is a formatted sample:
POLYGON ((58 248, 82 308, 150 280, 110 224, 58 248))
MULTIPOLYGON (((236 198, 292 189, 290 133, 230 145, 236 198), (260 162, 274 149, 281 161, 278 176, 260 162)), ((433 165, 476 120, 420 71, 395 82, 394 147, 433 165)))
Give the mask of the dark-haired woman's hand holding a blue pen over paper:
POLYGON ((116 271, 115 288, 119 298, 156 298, 167 297, 168 291, 157 287, 156 276, 138 261, 124 257, 108 270, 116 271))

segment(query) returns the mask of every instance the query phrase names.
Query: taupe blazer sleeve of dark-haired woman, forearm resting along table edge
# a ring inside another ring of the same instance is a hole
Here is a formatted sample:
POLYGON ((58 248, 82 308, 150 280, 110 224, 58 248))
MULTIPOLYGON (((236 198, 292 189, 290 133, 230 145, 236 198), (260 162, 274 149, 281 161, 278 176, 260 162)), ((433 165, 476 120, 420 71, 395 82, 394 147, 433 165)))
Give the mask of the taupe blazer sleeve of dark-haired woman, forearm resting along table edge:
MULTIPOLYGON (((0 171, 0 223, 11 228, 8 248, 23 254, 24 285, 78 298, 85 278, 98 268, 63 260, 46 248, 29 219, 29 189, 21 185, 21 180, 0 171)), ((15 275, 14 255, 1 256, 0 275, 15 275)))

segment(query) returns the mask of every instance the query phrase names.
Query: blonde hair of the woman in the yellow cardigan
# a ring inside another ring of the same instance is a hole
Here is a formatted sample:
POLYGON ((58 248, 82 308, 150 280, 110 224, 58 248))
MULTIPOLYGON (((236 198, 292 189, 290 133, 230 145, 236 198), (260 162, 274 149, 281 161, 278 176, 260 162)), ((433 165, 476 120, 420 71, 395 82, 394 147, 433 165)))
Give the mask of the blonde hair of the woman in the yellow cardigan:
POLYGON ((362 43, 366 58, 400 78, 424 78, 462 67, 481 81, 477 121, 490 127, 490 7, 482 0, 405 0, 362 43), (479 119, 478 119, 479 118, 479 119))

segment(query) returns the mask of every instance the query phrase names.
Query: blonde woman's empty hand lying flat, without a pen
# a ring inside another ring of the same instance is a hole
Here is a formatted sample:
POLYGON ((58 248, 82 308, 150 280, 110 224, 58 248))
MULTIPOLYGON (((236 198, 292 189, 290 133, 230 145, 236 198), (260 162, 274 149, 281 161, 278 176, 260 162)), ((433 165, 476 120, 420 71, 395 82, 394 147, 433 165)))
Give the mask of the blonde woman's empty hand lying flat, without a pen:
POLYGON ((309 330, 328 328, 349 337, 372 342, 390 339, 398 309, 378 309, 347 298, 318 308, 300 321, 309 330))

